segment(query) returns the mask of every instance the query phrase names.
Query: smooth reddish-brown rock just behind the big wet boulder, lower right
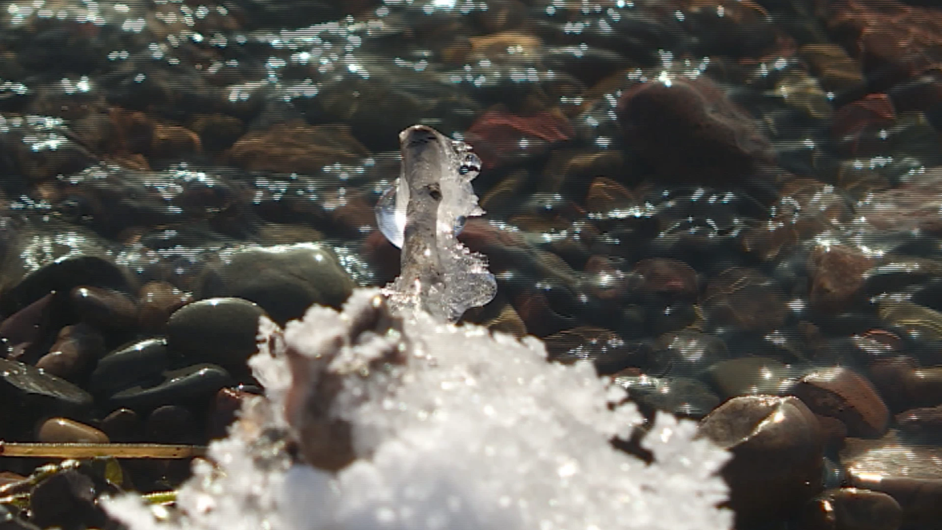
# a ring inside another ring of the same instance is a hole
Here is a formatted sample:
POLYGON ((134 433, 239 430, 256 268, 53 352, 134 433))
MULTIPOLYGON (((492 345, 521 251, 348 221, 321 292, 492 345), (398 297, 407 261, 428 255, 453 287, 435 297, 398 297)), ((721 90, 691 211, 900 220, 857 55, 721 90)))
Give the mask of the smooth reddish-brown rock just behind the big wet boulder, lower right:
POLYGON ((805 375, 792 391, 815 413, 836 418, 853 437, 881 437, 889 410, 869 380, 843 367, 805 375))

